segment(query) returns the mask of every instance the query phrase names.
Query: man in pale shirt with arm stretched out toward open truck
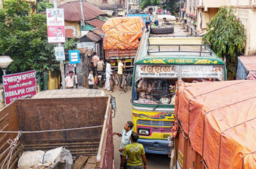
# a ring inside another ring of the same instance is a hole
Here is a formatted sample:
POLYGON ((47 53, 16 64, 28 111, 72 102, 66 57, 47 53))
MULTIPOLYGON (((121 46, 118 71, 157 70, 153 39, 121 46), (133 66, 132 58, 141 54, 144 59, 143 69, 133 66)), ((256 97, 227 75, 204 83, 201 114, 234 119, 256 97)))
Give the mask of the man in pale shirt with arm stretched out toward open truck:
MULTIPOLYGON (((130 140, 130 137, 131 137, 131 134, 133 133, 133 122, 132 121, 127 121, 126 124, 124 124, 124 127, 123 127, 123 131, 121 131, 121 133, 114 133, 113 135, 117 135, 119 137, 122 137, 122 140, 121 140, 121 145, 120 145, 120 149, 119 149, 119 152, 120 152, 120 161, 122 160, 122 155, 123 155, 123 149, 125 146, 129 145, 131 143, 131 140, 130 140)), ((126 158, 123 160, 123 169, 126 169, 126 164, 127 164, 127 160, 126 158)), ((121 167, 121 165, 120 165, 121 167)))

